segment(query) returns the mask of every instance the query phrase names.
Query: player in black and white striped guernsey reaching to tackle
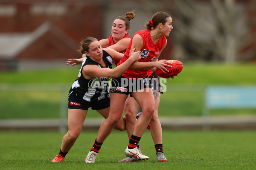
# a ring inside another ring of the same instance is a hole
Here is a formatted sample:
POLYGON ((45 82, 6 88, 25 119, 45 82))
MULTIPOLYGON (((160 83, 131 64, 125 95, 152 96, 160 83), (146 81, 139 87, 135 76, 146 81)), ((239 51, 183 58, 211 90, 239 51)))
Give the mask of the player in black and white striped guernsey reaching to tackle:
MULTIPOLYGON (((131 52, 131 57, 112 70, 113 60, 120 60, 124 54, 111 48, 102 50, 96 38, 88 37, 81 42, 80 52, 84 57, 78 78, 68 95, 68 132, 64 135, 61 150, 52 162, 64 160, 81 133, 88 108, 98 111, 105 119, 109 114, 110 95, 108 80, 121 76, 134 62, 141 58, 140 51, 131 52)), ((116 124, 117 130, 125 130, 125 120, 116 124)))

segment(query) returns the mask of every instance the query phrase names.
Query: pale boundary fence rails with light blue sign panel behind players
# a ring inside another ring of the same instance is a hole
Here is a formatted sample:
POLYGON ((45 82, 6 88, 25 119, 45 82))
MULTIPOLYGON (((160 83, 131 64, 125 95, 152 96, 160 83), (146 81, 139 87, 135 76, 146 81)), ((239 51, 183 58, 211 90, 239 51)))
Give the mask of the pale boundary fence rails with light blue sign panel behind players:
MULTIPOLYGON (((202 92, 203 110, 201 117, 160 117, 162 127, 167 129, 209 130, 212 125, 241 124, 256 129, 256 116, 217 117, 212 119, 210 110, 217 108, 256 108, 256 86, 205 86, 205 85, 166 85, 167 91, 202 92)), ((67 131, 67 93, 70 84, 0 84, 1 91, 57 91, 60 92, 60 119, 0 120, 0 127, 55 127, 61 133, 67 131)), ((182 102, 182 101, 181 101, 182 102)), ((198 101, 201 102, 201 101, 198 101)), ((1 111, 0 111, 1 112, 1 111)), ((84 126, 98 128, 103 119, 86 119, 84 126)), ((242 127, 244 128, 244 127, 242 127)), ((246 129, 246 127, 244 128, 246 129)))

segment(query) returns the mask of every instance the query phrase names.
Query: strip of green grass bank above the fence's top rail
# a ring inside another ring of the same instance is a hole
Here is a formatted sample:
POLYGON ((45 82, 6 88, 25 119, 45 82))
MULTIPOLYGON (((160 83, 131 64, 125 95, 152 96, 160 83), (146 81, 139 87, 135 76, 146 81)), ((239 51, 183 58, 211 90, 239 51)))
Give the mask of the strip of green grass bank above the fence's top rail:
MULTIPOLYGON (((63 63, 61 69, 1 72, 0 83, 68 83, 71 86, 77 78, 79 69, 80 66, 63 63)), ((183 63, 182 72, 175 79, 167 80, 167 84, 255 85, 255 73, 255 63, 183 63)))

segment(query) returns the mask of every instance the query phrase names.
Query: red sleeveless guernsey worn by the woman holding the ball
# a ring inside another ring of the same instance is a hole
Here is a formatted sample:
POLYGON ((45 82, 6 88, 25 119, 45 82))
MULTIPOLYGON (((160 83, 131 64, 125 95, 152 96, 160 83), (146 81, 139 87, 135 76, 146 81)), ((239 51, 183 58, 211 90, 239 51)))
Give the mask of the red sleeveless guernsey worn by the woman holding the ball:
MULTIPOLYGON (((143 39, 143 47, 140 49, 141 51, 141 59, 139 59, 140 62, 150 62, 153 59, 155 59, 166 43, 166 37, 160 37, 157 43, 154 44, 151 39, 150 32, 151 30, 140 30, 134 34, 134 35, 139 34, 143 39)), ((131 40, 133 39, 133 37, 131 38, 131 40)), ((126 59, 129 58, 130 51, 131 51, 131 41, 128 45, 128 48, 126 49, 125 57, 123 57, 117 65, 122 64, 123 62, 125 62, 126 59)), ((126 78, 143 78, 146 76, 150 76, 151 74, 152 74, 152 71, 150 69, 131 70, 130 68, 128 68, 127 71, 125 71, 125 73, 122 74, 122 76, 126 78)))

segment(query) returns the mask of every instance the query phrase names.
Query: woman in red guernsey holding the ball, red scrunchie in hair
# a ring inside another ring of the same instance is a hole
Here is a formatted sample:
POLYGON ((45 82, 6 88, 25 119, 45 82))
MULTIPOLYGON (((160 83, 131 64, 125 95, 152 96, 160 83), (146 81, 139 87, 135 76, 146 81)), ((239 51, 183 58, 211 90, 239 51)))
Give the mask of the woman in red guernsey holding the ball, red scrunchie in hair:
POLYGON ((167 60, 157 61, 167 44, 166 37, 173 29, 172 17, 165 12, 157 12, 152 20, 146 23, 146 26, 147 30, 141 30, 134 34, 125 57, 118 63, 120 65, 130 57, 131 49, 135 48, 135 51, 142 51, 142 58, 138 62, 134 62, 121 77, 116 78, 119 83, 112 84, 115 91, 111 93, 109 116, 99 128, 95 143, 85 159, 87 163, 95 162, 102 143, 111 133, 116 122, 122 117, 125 100, 129 94, 139 103, 143 113, 135 123, 129 144, 125 149, 125 156, 140 160, 149 159, 137 147, 155 110, 154 95, 148 82, 148 72, 150 68, 153 70, 159 68, 165 72, 168 71, 165 67, 172 67, 168 65, 167 60))

